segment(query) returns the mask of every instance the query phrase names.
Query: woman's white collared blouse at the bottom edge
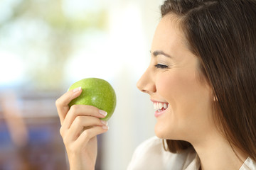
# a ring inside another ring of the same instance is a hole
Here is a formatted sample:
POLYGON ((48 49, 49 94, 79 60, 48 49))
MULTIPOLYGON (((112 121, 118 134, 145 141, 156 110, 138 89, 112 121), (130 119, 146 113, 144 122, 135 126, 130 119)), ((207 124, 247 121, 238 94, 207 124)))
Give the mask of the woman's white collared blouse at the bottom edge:
MULTIPOLYGON (((200 159, 193 149, 174 154, 166 152, 163 142, 152 137, 135 150, 127 170, 198 170, 200 159)), ((256 170, 256 162, 248 157, 239 170, 256 170)))

